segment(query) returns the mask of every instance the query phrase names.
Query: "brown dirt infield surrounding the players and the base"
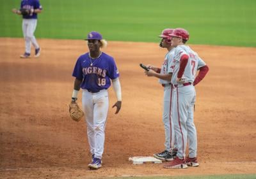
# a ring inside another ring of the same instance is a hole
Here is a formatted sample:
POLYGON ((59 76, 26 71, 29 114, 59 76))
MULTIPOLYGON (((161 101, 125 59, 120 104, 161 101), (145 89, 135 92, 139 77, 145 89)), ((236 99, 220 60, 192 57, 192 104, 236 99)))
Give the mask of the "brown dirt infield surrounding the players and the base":
MULTIPOLYGON (((67 106, 72 70, 86 44, 38 42, 40 58, 20 59, 24 40, 0 38, 0 178, 256 173, 256 48, 191 45, 210 68, 196 86, 200 167, 163 169, 134 166, 128 158, 164 149, 163 87, 138 64, 161 66, 166 50, 157 43, 109 42, 104 52, 116 59, 123 106, 118 115, 109 108, 103 168, 90 171, 86 124, 70 120, 67 106)), ((112 88, 109 96, 112 106, 112 88)))

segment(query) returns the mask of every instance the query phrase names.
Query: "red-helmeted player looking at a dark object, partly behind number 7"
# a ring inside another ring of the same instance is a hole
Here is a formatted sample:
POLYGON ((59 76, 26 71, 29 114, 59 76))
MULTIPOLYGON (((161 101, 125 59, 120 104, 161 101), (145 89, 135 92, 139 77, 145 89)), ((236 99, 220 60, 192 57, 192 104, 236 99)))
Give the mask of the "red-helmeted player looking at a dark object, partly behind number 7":
POLYGON ((152 65, 148 65, 150 68, 149 71, 145 71, 145 75, 147 76, 155 76, 159 78, 159 83, 164 87, 164 98, 163 98, 163 124, 164 124, 164 147, 165 150, 160 152, 159 154, 154 154, 154 157, 157 159, 161 159, 161 161, 172 161, 173 157, 177 153, 173 150, 175 143, 175 134, 173 130, 173 122, 172 122, 172 92, 173 88, 171 85, 172 78, 172 68, 170 66, 173 55, 174 55, 174 47, 171 45, 171 37, 170 34, 174 29, 164 29, 162 34, 159 35, 161 42, 159 44, 160 47, 166 48, 168 50, 167 54, 164 57, 164 62, 161 68, 157 68, 152 65))

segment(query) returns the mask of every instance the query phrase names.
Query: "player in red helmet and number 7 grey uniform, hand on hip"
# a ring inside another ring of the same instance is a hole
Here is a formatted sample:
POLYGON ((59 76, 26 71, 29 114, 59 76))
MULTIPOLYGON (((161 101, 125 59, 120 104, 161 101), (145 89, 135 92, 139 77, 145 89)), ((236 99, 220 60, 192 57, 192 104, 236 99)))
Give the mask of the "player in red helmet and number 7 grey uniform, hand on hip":
POLYGON ((173 95, 173 123, 177 136, 177 157, 164 168, 188 168, 199 166, 197 161, 196 128, 193 121, 195 104, 195 87, 209 71, 205 62, 200 59, 190 47, 185 45, 189 33, 185 29, 177 28, 172 34, 172 45, 175 55, 172 61, 172 84, 175 87, 173 95), (199 70, 198 76, 196 71, 199 70), (186 157, 186 145, 189 140, 189 154, 186 157), (185 158, 186 157, 186 158, 185 158))

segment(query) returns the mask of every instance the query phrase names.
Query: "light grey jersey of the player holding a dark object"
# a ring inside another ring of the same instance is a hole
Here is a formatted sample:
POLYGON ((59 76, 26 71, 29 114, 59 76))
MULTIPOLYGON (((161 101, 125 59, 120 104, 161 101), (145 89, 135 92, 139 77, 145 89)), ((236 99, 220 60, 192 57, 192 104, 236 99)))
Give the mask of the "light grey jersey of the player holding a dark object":
MULTIPOLYGON (((173 48, 172 50, 170 50, 164 57, 164 62, 162 64, 162 67, 161 67, 161 72, 160 74, 167 74, 167 73, 172 73, 172 70, 170 70, 171 68, 171 64, 172 64, 172 59, 173 59, 173 56, 174 56, 174 50, 175 48, 173 48)), ((171 80, 170 81, 166 81, 166 80, 161 80, 159 79, 159 83, 161 84, 168 84, 168 83, 171 83, 171 80)))

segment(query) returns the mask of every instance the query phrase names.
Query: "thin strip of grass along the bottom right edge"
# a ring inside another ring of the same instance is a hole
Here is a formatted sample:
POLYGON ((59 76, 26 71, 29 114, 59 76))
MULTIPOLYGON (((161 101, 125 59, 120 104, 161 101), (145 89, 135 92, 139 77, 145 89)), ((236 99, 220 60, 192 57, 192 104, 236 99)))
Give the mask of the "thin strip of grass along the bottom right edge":
MULTIPOLYGON (((141 176, 117 177, 108 179, 255 179, 256 175, 208 175, 208 176, 141 176)), ((106 178, 107 179, 107 178, 106 178)))

